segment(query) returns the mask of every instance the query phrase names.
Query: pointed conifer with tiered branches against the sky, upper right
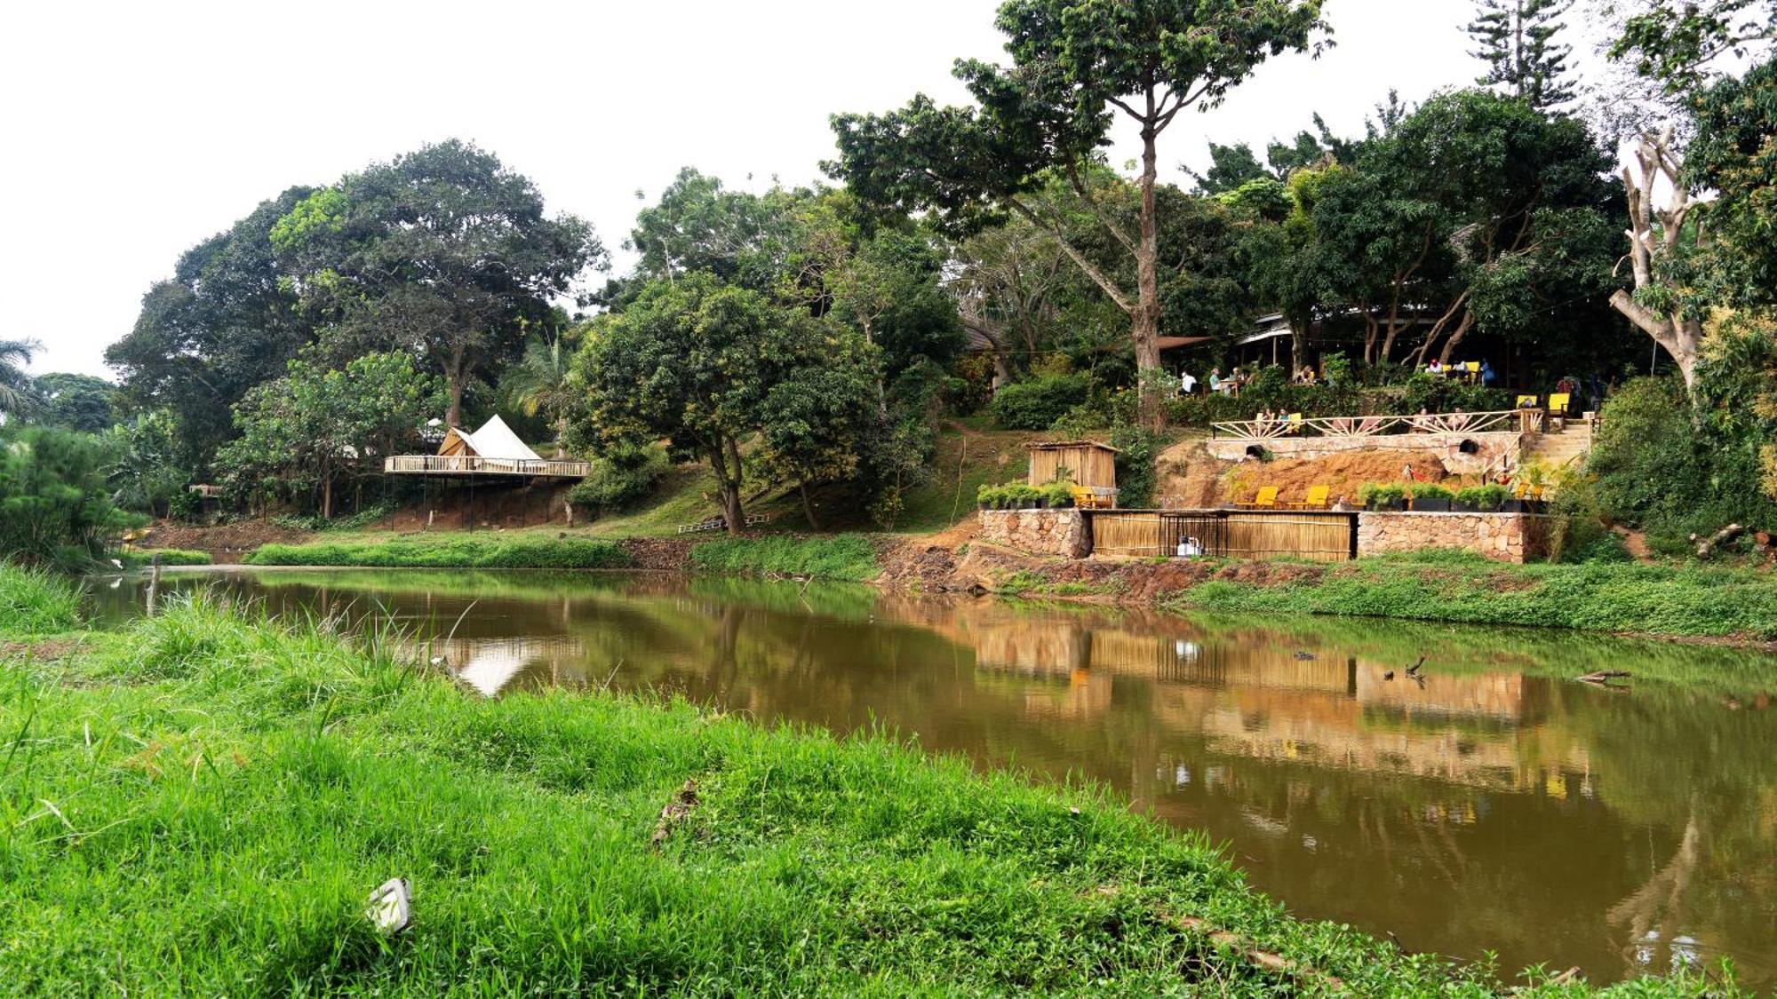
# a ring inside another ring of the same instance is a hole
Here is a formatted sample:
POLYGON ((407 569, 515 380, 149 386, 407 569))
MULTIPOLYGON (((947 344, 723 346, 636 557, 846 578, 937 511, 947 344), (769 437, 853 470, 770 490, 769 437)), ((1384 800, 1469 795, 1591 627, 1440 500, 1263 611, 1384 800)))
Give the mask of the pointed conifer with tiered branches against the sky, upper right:
POLYGON ((1468 34, 1475 39, 1475 59, 1487 64, 1477 84, 1502 85, 1535 108, 1573 101, 1567 68, 1573 46, 1560 41, 1567 30, 1562 18, 1571 7, 1573 0, 1477 0, 1468 34))

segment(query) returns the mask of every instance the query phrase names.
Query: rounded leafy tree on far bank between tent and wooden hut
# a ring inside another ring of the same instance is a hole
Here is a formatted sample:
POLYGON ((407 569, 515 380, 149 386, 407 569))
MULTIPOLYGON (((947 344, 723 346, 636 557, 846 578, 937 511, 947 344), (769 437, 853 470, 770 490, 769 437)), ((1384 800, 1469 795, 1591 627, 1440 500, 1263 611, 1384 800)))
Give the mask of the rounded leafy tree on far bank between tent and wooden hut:
POLYGON ((743 446, 798 480, 844 475, 874 409, 874 350, 857 332, 713 274, 649 283, 606 316, 574 359, 586 436, 601 448, 666 439, 702 459, 730 533, 741 508, 743 446))

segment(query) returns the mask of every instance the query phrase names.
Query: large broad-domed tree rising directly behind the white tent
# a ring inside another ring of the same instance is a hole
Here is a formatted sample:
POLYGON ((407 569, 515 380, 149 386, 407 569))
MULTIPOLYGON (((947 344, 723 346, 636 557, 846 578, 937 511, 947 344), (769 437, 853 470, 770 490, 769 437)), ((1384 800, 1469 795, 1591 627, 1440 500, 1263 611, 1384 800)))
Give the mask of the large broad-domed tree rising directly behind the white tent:
POLYGON ((446 420, 547 325, 606 252, 592 226, 549 217, 530 178, 457 139, 350 174, 270 231, 336 364, 407 350, 446 384, 446 420))

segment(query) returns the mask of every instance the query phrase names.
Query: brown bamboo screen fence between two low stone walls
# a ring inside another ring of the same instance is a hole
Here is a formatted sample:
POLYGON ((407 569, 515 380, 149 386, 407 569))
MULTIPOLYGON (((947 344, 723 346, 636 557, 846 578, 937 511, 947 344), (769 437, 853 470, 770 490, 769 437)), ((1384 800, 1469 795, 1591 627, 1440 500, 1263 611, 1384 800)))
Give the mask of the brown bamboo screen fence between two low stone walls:
POLYGON ((1196 539, 1205 555, 1226 558, 1345 562, 1352 556, 1352 514, 1111 510, 1093 514, 1091 521, 1095 555, 1171 558, 1178 542, 1196 539))

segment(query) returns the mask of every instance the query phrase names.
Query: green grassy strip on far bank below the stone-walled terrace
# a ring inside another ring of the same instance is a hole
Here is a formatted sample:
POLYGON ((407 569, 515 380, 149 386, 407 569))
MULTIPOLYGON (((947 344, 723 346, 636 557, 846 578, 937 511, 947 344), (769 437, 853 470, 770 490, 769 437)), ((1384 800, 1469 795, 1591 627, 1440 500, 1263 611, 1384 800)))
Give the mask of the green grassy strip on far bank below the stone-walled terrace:
POLYGON ((1432 551, 1367 558, 1281 585, 1212 579, 1169 601, 1242 613, 1777 640, 1777 576, 1733 567, 1500 565, 1432 551))

